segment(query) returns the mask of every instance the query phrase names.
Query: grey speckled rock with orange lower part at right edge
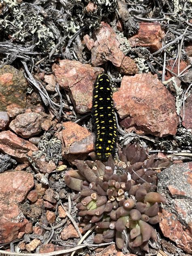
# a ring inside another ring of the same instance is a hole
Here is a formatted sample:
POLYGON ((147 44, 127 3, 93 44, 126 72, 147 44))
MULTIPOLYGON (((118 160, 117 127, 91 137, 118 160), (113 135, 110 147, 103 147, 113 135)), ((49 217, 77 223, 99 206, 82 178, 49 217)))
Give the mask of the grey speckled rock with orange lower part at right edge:
POLYGON ((174 164, 158 174, 158 192, 166 196, 168 203, 162 205, 160 228, 178 247, 192 253, 191 205, 192 163, 174 164))

